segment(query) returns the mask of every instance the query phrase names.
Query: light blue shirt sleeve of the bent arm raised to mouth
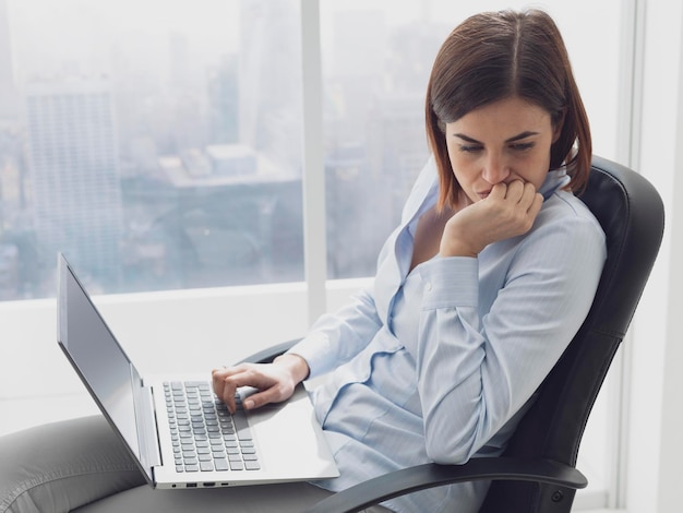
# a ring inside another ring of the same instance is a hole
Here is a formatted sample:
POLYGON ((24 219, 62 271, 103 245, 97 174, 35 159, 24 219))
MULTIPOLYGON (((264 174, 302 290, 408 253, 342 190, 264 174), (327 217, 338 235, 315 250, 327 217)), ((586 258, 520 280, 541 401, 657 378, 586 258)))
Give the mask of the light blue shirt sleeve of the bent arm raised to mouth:
POLYGON ((527 235, 493 291, 480 290, 477 259, 421 269, 416 360, 430 458, 466 462, 531 397, 588 313, 604 256, 597 223, 579 219, 527 235), (495 294, 483 315, 480 294, 495 294))

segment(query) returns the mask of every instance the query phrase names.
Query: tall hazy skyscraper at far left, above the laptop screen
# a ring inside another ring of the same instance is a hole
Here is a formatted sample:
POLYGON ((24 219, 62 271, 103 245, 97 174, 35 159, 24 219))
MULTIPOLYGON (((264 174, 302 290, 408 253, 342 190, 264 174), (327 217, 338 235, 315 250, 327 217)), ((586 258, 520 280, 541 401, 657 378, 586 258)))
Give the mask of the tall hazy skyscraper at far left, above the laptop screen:
POLYGON ((109 83, 34 83, 26 96, 40 256, 49 265, 64 251, 116 285, 122 208, 109 83))

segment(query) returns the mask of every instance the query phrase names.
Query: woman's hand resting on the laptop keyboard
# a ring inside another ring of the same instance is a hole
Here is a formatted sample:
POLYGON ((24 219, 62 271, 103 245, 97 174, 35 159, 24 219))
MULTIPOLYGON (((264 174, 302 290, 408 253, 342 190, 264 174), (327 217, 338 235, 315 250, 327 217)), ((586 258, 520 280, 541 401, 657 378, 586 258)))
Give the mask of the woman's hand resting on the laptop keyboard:
POLYGON ((240 363, 212 371, 214 392, 230 413, 235 413, 235 393, 240 386, 253 386, 259 392, 243 403, 244 409, 259 408, 268 403, 287 401, 295 387, 309 374, 307 361, 292 354, 281 355, 272 363, 240 363))

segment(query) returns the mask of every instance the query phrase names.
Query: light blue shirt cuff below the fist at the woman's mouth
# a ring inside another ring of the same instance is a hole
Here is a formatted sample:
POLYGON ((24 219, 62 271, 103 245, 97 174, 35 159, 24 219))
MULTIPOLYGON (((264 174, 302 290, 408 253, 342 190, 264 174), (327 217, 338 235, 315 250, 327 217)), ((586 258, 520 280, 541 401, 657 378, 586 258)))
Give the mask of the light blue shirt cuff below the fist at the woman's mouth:
POLYGON ((422 310, 472 307, 479 303, 479 260, 435 258, 420 266, 424 284, 422 310))

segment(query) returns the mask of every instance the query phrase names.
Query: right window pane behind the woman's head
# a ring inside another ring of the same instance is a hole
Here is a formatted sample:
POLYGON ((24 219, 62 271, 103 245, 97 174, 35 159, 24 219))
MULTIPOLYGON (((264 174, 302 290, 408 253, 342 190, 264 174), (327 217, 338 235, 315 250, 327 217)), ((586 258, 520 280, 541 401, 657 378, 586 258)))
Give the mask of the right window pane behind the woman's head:
MULTIPOLYGON (((328 277, 372 275, 378 251, 427 162, 424 93, 441 44, 468 15, 528 2, 326 0, 320 5, 328 277)), ((620 2, 536 5, 563 32, 596 153, 614 158, 620 2), (601 34, 599 49, 586 44, 586 33, 601 34), (600 81, 594 80, 597 74, 600 81)))

